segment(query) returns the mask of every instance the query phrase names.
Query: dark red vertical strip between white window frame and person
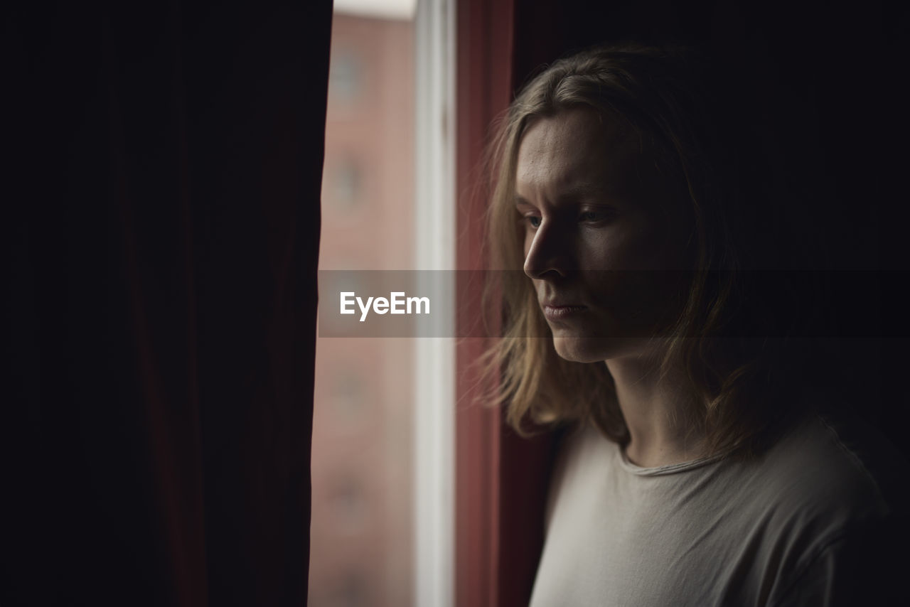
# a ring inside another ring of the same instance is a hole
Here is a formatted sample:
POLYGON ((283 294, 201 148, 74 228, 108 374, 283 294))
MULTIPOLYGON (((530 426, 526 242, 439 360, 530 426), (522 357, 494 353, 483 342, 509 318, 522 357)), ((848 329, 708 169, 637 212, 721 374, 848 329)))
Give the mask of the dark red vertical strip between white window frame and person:
MULTIPOLYGON (((486 198, 483 147, 493 119, 509 106, 514 77, 515 5, 461 0, 457 5, 458 72, 456 183, 459 269, 487 268, 480 256, 486 198)), ((460 272, 460 327, 474 327, 481 285, 460 272)), ((465 329, 464 334, 469 334, 465 329)), ((482 384, 473 363, 480 339, 457 347, 455 603, 526 605, 543 543, 543 507, 552 437, 523 440, 501 411, 477 405, 482 384)))

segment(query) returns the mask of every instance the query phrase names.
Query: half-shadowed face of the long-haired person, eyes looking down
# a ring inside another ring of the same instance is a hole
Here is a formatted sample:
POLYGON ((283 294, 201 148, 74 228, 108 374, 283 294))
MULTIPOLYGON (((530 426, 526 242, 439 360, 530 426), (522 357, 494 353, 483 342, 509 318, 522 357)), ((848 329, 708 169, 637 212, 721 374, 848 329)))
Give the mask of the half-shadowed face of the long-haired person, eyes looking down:
POLYGON ((557 353, 579 362, 653 353, 679 312, 691 220, 638 138, 589 109, 534 120, 521 139, 516 208, 524 272, 557 353))

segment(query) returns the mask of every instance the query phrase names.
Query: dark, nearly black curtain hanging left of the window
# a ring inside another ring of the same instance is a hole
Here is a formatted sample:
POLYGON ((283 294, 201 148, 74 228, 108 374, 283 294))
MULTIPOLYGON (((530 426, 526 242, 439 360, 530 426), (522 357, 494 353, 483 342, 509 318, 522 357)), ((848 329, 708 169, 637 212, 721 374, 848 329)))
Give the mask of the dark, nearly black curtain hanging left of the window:
POLYGON ((306 603, 330 20, 5 8, 0 603, 306 603))

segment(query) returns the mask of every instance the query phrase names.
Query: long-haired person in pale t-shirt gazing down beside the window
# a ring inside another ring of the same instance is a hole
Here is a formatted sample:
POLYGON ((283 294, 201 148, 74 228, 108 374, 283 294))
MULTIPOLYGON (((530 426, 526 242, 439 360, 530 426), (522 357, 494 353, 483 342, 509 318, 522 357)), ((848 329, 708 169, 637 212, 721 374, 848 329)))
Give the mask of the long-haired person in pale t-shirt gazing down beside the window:
POLYGON ((906 462, 768 288, 787 200, 712 69, 595 47, 499 125, 491 396, 562 429, 532 607, 906 598, 906 462))

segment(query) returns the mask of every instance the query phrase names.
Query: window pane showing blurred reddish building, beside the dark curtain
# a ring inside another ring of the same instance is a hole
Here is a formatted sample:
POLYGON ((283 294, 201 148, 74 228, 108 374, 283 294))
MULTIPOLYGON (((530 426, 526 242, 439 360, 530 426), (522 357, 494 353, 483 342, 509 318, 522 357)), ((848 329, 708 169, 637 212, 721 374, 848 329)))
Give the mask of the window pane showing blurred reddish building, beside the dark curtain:
MULTIPOLYGON (((319 268, 408 269, 414 7, 350 4, 332 25, 319 268)), ((413 603, 413 342, 318 339, 312 607, 413 603)))

